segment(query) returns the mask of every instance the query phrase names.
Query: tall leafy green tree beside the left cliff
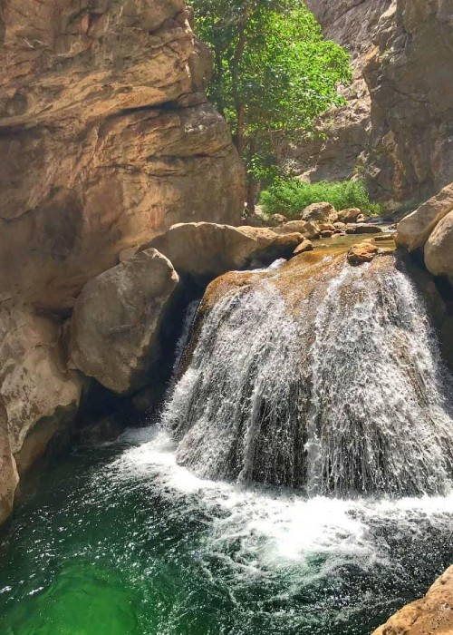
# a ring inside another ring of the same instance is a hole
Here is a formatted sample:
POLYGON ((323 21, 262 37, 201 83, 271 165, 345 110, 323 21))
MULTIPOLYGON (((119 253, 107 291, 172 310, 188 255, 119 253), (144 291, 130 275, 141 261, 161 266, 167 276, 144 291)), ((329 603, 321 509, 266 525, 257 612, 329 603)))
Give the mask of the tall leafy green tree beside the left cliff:
POLYGON ((292 135, 343 102, 349 57, 323 39, 302 0, 192 0, 199 37, 214 55, 209 98, 246 161, 247 207, 275 171, 273 134, 292 135))

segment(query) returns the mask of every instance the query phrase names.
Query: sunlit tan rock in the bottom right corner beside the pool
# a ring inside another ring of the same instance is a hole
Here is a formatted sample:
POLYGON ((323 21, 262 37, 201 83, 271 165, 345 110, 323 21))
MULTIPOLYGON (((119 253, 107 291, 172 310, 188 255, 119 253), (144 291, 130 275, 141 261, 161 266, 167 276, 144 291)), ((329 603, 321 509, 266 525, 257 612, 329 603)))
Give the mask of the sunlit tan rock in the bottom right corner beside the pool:
POLYGON ((408 604, 373 635, 448 635, 453 632, 453 567, 421 600, 408 604))

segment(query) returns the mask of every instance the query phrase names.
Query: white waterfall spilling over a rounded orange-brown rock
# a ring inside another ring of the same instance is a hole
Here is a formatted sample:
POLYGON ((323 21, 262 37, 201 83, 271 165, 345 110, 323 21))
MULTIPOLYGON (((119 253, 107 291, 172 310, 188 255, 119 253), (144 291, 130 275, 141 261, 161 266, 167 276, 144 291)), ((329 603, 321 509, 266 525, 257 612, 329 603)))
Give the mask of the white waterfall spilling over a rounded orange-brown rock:
POLYGON ((309 495, 449 489, 450 378, 393 257, 219 279, 164 409, 180 464, 309 495))

